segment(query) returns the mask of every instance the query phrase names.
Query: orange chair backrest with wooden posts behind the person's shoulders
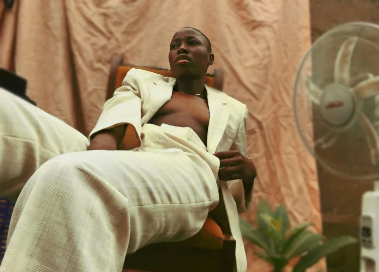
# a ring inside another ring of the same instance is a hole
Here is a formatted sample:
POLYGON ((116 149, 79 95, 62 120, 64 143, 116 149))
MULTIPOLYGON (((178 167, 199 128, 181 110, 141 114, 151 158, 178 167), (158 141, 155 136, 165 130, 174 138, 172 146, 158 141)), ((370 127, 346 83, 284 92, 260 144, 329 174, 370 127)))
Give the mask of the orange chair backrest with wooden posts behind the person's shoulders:
MULTIPOLYGON (((115 89, 122 85, 122 80, 127 75, 130 69, 137 68, 150 72, 154 72, 163 76, 171 77, 172 73, 168 69, 163 69, 154 66, 138 66, 128 63, 124 63, 122 57, 115 56, 112 58, 110 64, 110 72, 108 77, 108 84, 106 88, 105 101, 113 96, 115 89)), ((207 75, 205 78, 205 84, 209 87, 222 91, 224 82, 224 73, 222 69, 215 69, 213 75, 207 75)))

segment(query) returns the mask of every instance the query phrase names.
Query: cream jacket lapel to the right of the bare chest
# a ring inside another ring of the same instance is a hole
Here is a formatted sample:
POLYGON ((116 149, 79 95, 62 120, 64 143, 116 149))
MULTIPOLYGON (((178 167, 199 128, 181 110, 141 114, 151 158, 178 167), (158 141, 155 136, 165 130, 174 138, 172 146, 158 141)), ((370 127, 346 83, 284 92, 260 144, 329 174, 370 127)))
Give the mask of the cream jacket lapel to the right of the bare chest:
POLYGON ((221 141, 229 119, 230 111, 226 102, 220 97, 219 91, 206 87, 209 107, 209 125, 207 137, 207 150, 214 154, 221 141))

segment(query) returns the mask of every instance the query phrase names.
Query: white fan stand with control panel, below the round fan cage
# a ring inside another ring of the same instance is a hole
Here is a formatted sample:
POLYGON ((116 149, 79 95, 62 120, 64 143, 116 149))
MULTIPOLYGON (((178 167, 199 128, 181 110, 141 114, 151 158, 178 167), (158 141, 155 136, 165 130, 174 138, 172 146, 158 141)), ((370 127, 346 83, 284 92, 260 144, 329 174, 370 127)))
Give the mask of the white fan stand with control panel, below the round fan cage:
POLYGON ((360 272, 379 272, 379 181, 363 194, 360 224, 360 272))

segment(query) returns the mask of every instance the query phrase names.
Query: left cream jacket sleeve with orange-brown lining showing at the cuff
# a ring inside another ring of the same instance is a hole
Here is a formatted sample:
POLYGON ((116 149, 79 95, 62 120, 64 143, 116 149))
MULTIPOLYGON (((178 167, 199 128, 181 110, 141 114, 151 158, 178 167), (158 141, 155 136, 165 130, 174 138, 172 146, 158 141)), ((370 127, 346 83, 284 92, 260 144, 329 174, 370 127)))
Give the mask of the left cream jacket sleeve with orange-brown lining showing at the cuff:
POLYGON ((128 150, 141 144, 141 109, 143 102, 136 82, 136 71, 136 69, 132 68, 123 79, 122 86, 116 89, 113 97, 105 102, 102 113, 89 134, 89 140, 92 139, 94 133, 100 130, 128 124, 120 143, 120 149, 128 150), (125 139, 128 141, 125 141, 125 139))

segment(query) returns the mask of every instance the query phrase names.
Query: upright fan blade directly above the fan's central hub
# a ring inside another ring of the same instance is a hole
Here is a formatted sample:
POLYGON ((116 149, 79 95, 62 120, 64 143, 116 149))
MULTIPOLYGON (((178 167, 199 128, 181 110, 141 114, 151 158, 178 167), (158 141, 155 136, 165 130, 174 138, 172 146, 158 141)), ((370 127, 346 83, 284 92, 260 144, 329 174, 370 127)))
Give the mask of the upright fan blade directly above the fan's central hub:
POLYGON ((357 37, 351 37, 340 47, 334 64, 334 82, 344 86, 350 84, 350 60, 353 54, 357 37))

